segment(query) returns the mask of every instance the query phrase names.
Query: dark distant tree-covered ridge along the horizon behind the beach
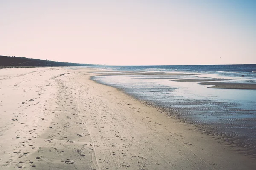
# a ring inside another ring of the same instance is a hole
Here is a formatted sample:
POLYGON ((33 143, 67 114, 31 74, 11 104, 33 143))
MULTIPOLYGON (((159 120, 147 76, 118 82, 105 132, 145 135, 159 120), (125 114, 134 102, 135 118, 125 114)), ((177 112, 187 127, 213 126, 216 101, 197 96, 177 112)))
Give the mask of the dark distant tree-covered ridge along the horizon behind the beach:
POLYGON ((41 59, 30 59, 26 57, 0 56, 0 66, 18 67, 59 67, 59 66, 95 66, 93 64, 78 64, 70 62, 57 62, 41 59))

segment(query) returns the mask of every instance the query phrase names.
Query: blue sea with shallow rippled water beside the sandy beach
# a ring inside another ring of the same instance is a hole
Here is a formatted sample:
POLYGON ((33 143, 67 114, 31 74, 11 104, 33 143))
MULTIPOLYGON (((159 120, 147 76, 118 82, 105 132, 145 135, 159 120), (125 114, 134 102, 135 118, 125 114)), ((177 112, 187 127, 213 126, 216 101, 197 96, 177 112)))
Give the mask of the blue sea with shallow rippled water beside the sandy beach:
POLYGON ((212 85, 199 84, 204 80, 256 84, 256 64, 101 66, 98 69, 102 75, 91 77, 94 81, 154 105, 200 133, 256 158, 256 90, 208 88, 212 85))

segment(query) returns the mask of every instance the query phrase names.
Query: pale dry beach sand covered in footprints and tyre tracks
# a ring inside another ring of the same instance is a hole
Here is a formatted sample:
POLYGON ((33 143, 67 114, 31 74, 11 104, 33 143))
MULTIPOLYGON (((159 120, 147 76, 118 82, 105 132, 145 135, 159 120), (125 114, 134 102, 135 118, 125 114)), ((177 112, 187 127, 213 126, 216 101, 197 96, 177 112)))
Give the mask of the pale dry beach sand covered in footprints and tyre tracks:
POLYGON ((0 169, 254 170, 219 144, 88 68, 0 70, 0 169))

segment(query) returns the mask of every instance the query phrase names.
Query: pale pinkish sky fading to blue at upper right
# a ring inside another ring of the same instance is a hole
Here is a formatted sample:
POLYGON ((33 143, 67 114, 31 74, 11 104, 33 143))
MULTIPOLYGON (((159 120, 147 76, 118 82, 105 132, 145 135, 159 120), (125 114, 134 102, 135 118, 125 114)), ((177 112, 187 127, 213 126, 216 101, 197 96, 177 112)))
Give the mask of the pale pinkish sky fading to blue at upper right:
POLYGON ((0 0, 0 55, 107 65, 256 64, 256 0, 0 0))

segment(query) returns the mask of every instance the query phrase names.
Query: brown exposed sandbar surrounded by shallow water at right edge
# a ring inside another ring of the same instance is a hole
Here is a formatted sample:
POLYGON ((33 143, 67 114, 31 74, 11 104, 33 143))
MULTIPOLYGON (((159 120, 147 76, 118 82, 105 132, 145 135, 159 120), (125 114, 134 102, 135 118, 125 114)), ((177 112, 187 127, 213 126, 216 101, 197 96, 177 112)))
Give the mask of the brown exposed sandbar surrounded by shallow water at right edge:
POLYGON ((208 88, 226 88, 226 89, 256 89, 256 84, 249 83, 231 83, 231 82, 201 82, 201 85, 212 85, 208 88))

